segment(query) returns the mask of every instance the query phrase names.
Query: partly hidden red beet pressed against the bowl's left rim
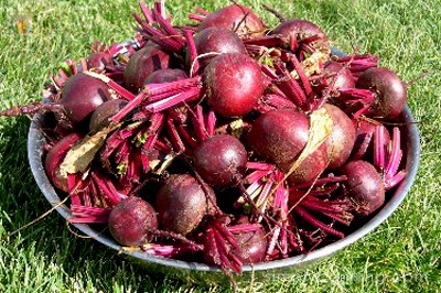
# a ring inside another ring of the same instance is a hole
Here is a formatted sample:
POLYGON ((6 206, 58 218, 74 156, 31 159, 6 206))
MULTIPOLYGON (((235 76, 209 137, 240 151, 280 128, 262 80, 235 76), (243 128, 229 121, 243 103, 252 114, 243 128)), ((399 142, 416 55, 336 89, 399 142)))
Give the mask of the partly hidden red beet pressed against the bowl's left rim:
POLYGON ((71 148, 83 138, 79 133, 72 133, 57 141, 47 152, 44 160, 44 170, 47 177, 51 180, 55 187, 67 193, 67 178, 66 175, 61 173, 60 165, 71 148))

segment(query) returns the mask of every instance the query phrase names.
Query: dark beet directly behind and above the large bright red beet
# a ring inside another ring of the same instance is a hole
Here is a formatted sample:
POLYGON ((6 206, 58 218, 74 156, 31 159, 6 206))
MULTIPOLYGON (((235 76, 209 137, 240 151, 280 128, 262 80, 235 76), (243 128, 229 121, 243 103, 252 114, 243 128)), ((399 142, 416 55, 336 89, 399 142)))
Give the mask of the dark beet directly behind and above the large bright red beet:
MULTIPOLYGON (((224 28, 208 28, 194 35, 197 55, 206 53, 240 53, 247 54, 247 50, 240 37, 233 31, 224 28)), ((200 65, 205 67, 212 57, 200 58, 200 65)), ((189 52, 187 52, 187 59, 189 52)), ((189 64, 190 68, 191 64, 189 64)))

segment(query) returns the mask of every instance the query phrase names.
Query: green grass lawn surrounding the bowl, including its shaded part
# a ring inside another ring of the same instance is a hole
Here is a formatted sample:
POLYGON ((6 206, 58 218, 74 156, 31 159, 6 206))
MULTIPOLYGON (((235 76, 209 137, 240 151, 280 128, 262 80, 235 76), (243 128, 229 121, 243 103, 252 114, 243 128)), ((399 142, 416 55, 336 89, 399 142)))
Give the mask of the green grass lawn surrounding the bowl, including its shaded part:
MULTIPOLYGON (((270 25, 263 1, 244 1, 270 25)), ((213 10, 227 1, 200 3, 213 10)), ((374 232, 335 257, 290 275, 240 284, 265 292, 437 292, 441 287, 441 15, 437 0, 275 1, 286 15, 316 22, 346 52, 380 56, 381 65, 405 80, 431 75, 409 88, 409 106, 420 122, 421 165, 399 209, 374 232)), ((168 1, 176 22, 185 21, 191 1, 168 1)), ((47 75, 66 58, 90 52, 94 40, 130 39, 136 0, 2 1, 0 10, 0 109, 40 99, 47 75), (19 34, 13 20, 32 21, 19 34)), ((26 161, 28 118, 0 120, 0 237, 50 208, 26 161)), ((72 235, 52 213, 20 234, 0 241, 0 292, 206 292, 223 285, 186 283, 146 271, 93 239, 72 235)))

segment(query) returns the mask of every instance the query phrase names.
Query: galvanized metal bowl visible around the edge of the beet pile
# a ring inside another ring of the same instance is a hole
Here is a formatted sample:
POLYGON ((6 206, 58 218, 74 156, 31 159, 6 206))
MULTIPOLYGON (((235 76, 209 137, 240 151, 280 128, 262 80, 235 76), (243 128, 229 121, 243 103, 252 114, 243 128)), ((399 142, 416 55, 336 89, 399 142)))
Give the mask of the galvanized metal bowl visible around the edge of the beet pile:
MULTIPOLYGON (((340 53, 340 52, 338 52, 340 53)), ((35 119, 41 119, 39 116, 35 119)), ((319 248, 308 254, 291 257, 281 260, 275 260, 270 262, 256 263, 251 265, 244 265, 244 275, 249 275, 252 273, 262 273, 261 275, 267 275, 269 271, 277 273, 289 273, 292 270, 305 267, 316 260, 332 256, 333 253, 346 248, 351 243, 357 241, 362 237, 369 234, 376 227, 378 227, 383 221, 385 221, 399 206, 402 202, 409 188, 411 187, 420 160, 420 140, 417 124, 415 123, 413 117, 408 106, 399 117, 399 121, 406 124, 402 132, 404 145, 404 156, 406 163, 406 171, 408 172, 407 177, 399 184, 395 189, 394 194, 389 197, 388 202, 383 206, 383 208, 367 223, 362 225, 358 229, 347 235, 345 238, 335 241, 325 247, 319 248)), ((46 173, 43 169, 43 152, 42 146, 45 143, 45 138, 36 128, 35 122, 30 127, 28 135, 28 156, 29 163, 33 176, 35 177, 36 184, 40 189, 51 203, 56 210, 67 219, 71 216, 69 208, 61 204, 61 198, 52 186, 46 173)), ((94 230, 89 225, 85 224, 74 224, 74 226, 84 232, 85 235, 94 238, 95 240, 101 242, 106 247, 114 249, 118 252, 122 252, 123 256, 130 258, 133 261, 142 263, 146 267, 153 269, 154 271, 162 271, 166 273, 178 274, 179 276, 184 276, 185 279, 193 280, 216 280, 223 279, 223 272, 213 265, 207 265, 198 262, 187 262, 181 260, 173 260, 160 257, 149 256, 141 251, 126 251, 121 250, 121 246, 118 245, 114 239, 106 235, 100 235, 98 231, 94 230)))

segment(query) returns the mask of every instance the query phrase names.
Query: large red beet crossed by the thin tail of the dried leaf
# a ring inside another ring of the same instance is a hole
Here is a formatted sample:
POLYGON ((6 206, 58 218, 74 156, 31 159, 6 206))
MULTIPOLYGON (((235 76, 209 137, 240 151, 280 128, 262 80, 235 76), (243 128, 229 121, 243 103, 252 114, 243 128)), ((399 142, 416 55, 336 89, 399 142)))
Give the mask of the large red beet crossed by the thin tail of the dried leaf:
MULTIPOLYGON (((278 109, 256 119, 247 142, 257 154, 275 162, 287 173, 305 146, 309 129, 305 113, 294 109, 278 109)), ((323 143, 299 165, 289 181, 294 184, 310 182, 324 171, 326 163, 326 145, 323 143)))

